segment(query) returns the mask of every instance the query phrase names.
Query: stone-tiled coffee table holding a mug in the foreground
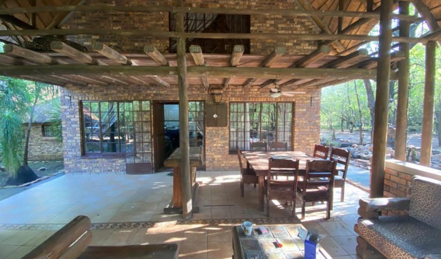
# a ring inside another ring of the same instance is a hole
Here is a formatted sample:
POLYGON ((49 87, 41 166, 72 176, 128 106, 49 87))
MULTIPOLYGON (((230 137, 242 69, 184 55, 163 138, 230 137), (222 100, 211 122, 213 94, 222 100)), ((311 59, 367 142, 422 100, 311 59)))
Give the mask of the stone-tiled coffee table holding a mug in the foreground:
MULTIPOLYGON (((241 226, 232 229, 234 259, 304 258, 304 243, 297 237, 297 228, 303 228, 301 224, 263 226, 267 233, 262 235, 256 233, 257 227, 253 226, 251 236, 245 236, 241 226), (274 245, 276 238, 282 243, 281 248, 274 245)), ((323 248, 319 248, 317 259, 331 258, 323 248)))

